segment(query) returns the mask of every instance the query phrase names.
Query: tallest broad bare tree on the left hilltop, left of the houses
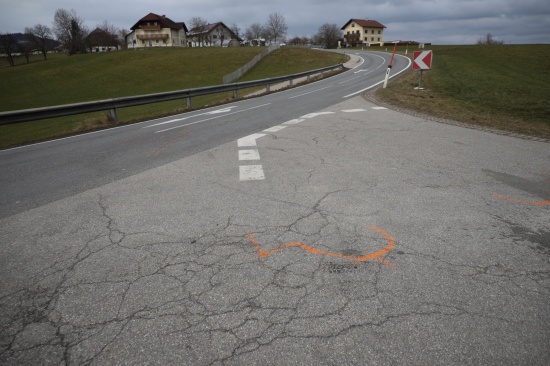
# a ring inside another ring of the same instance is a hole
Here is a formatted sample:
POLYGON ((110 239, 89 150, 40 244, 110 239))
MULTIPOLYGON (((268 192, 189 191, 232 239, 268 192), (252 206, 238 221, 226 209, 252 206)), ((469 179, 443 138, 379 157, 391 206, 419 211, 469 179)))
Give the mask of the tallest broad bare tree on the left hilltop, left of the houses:
POLYGON ((53 32, 69 55, 86 53, 84 38, 88 31, 84 20, 76 15, 74 9, 58 9, 55 12, 53 32))

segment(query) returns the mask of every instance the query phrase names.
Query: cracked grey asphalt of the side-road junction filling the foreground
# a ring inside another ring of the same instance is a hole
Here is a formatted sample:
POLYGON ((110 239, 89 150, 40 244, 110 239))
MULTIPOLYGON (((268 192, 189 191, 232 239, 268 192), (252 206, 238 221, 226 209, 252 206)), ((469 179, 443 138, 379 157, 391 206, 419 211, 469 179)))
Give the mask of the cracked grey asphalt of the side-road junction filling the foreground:
POLYGON ((373 106, 2 219, 0 364, 548 365, 550 145, 373 106))

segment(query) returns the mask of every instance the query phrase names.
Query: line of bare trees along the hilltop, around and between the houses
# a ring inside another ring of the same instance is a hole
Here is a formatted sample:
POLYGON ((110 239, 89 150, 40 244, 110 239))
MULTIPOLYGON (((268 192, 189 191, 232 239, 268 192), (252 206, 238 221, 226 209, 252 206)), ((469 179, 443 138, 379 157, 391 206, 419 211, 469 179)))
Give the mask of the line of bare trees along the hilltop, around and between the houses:
MULTIPOLYGON (((206 19, 194 17, 189 25, 191 29, 195 29, 207 24, 206 19)), ((285 17, 280 13, 269 14, 263 25, 253 23, 242 35, 241 29, 236 24, 233 24, 230 29, 239 38, 244 36, 249 41, 263 39, 266 43, 287 42, 288 26, 285 17)), ((13 33, 1 33, 0 53, 6 55, 9 64, 14 66, 13 56, 15 54, 25 56, 29 62, 29 57, 33 52, 40 52, 44 60, 47 60, 48 52, 54 49, 61 49, 69 55, 74 55, 92 52, 92 49, 97 46, 126 48, 128 33, 127 29, 119 29, 107 20, 90 31, 84 24, 84 19, 78 16, 74 9, 70 11, 58 9, 54 15, 52 28, 43 24, 26 27, 23 39, 13 33)), ((288 43, 291 45, 319 44, 326 48, 333 48, 336 47, 340 39, 340 28, 336 24, 327 23, 323 24, 312 38, 294 37, 288 40, 288 43)), ((202 44, 202 42, 199 43, 202 44)))

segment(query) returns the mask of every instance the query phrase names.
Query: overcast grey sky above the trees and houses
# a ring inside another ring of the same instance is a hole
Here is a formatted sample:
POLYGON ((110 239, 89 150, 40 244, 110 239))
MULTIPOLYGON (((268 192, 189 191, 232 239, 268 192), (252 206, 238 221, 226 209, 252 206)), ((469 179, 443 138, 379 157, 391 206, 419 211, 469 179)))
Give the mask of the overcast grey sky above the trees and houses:
POLYGON ((343 26, 352 18, 378 20, 386 41, 474 44, 492 33, 505 43, 550 43, 549 0, 0 0, 0 32, 52 26, 57 9, 74 9, 88 28, 104 20, 129 29, 149 13, 189 25, 191 18, 237 24, 244 32, 282 14, 287 36, 313 36, 324 23, 343 26))

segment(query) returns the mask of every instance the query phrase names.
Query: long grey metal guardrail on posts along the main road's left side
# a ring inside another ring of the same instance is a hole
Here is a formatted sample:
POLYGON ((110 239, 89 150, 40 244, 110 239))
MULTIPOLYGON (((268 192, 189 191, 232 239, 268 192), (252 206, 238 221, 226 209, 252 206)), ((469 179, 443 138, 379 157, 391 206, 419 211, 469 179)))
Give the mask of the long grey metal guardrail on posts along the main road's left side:
POLYGON ((265 86, 266 91, 269 92, 269 86, 271 84, 289 81, 290 85, 292 85, 292 82, 294 79, 307 77, 309 80, 310 76, 312 75, 321 74, 322 76, 323 73, 325 72, 337 70, 339 68, 344 68, 344 65, 338 64, 334 66, 328 66, 321 69, 306 71, 306 72, 293 74, 293 75, 247 81, 242 83, 208 86, 204 88, 185 89, 185 90, 178 90, 178 91, 172 91, 172 92, 138 95, 133 97, 105 99, 105 100, 98 100, 93 102, 64 104, 64 105, 44 107, 44 108, 33 108, 33 109, 22 109, 17 111, 0 112, 0 125, 7 125, 12 123, 20 123, 20 122, 28 122, 28 121, 37 121, 37 120, 48 119, 48 118, 63 117, 63 116, 70 116, 75 114, 99 112, 99 111, 106 111, 106 110, 110 111, 111 119, 113 121, 116 121, 117 108, 134 107, 134 106, 150 104, 150 103, 168 102, 176 99, 186 99, 187 107, 190 107, 192 97, 230 92, 230 91, 233 92, 233 98, 236 99, 238 97, 239 89, 265 86))

